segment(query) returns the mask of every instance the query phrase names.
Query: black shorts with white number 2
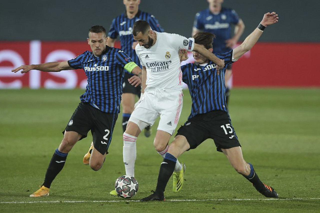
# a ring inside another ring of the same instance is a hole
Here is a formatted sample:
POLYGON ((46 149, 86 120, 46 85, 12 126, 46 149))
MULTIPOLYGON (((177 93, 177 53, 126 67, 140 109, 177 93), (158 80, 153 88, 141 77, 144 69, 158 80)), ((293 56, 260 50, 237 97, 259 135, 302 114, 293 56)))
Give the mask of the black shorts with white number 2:
POLYGON ((82 135, 82 139, 91 130, 94 148, 101 154, 108 154, 117 117, 118 114, 102 112, 89 103, 80 102, 62 133, 75 131, 82 135))

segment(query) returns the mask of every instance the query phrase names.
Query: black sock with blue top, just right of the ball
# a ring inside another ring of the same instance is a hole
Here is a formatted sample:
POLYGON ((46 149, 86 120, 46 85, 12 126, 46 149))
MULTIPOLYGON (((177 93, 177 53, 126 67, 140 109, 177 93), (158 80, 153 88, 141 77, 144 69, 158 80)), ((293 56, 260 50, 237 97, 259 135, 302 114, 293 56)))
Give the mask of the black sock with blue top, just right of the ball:
POLYGON ((163 159, 163 162, 160 166, 158 183, 156 187, 157 193, 164 193, 165 186, 167 185, 176 165, 177 158, 175 158, 172 154, 166 153, 163 159))

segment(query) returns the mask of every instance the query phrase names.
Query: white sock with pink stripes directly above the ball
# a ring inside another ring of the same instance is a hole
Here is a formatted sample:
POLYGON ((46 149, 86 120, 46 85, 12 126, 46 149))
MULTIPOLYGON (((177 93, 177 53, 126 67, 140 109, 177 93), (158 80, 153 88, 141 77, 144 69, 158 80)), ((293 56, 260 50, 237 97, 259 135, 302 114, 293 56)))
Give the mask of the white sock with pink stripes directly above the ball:
POLYGON ((134 177, 134 163, 137 158, 137 137, 123 133, 123 162, 125 174, 134 177))

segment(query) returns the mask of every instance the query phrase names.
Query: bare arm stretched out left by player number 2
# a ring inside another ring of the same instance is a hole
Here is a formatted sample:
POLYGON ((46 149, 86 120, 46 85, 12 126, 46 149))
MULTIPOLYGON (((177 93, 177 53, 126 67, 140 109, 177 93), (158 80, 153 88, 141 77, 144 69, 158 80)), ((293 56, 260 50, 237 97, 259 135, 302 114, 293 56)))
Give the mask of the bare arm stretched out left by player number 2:
POLYGON ((60 72, 61 70, 73 69, 69 66, 68 61, 61 62, 48 62, 44 64, 30 64, 30 65, 21 65, 18 68, 12 69, 11 72, 18 72, 21 70, 21 73, 27 73, 32 69, 44 71, 44 72, 60 72))

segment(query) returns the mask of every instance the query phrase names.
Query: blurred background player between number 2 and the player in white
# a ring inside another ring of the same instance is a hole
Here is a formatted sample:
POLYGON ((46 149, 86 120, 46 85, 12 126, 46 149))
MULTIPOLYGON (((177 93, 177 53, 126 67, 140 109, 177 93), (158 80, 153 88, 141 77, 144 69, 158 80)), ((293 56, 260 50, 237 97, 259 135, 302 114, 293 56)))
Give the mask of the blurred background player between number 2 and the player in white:
MULTIPOLYGON (((117 16, 112 21, 107 43, 108 46, 113 47, 116 38, 119 36, 121 49, 127 53, 138 66, 141 67, 138 56, 134 50, 137 45, 137 42, 134 42, 132 36, 132 27, 134 22, 138 20, 145 20, 150 24, 151 28, 157 32, 164 32, 164 29, 160 26, 158 20, 156 20, 153 15, 139 10, 140 0, 124 0, 123 4, 125 5, 125 12, 117 16)), ((128 83, 127 79, 131 76, 132 75, 127 72, 124 74, 124 87, 121 101, 123 131, 125 131, 130 115, 133 112, 135 96, 138 95, 140 98, 141 92, 141 87, 133 87, 128 83)), ((150 126, 145 128, 144 134, 146 137, 150 136, 150 126)))

